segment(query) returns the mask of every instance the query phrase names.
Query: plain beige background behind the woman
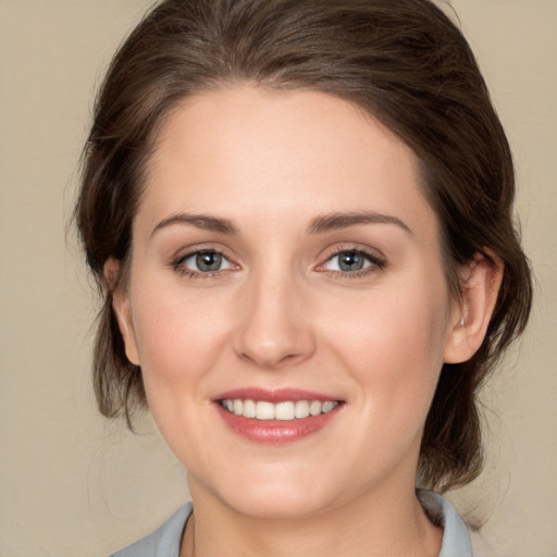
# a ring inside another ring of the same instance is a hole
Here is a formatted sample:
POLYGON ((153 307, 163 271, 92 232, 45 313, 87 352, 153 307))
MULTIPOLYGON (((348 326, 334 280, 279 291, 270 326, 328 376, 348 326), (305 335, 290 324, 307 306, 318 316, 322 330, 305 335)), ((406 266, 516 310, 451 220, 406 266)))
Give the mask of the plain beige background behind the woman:
MULTIPOLYGON (((0 0, 0 557, 85 557, 187 497, 149 419, 133 436, 89 385, 95 298, 64 236, 94 90, 146 0, 0 0)), ((455 494, 480 556, 557 556, 557 1, 454 0, 513 146, 539 278, 521 346, 486 389, 488 463, 455 494)))

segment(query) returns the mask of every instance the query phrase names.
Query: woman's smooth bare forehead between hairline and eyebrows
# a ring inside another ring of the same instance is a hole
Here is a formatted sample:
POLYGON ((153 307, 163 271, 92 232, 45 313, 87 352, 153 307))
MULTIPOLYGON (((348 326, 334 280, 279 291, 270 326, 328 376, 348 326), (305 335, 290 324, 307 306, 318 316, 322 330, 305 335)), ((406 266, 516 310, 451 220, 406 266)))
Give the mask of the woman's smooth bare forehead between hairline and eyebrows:
POLYGON ((331 95, 253 86, 187 98, 157 138, 139 212, 154 221, 208 209, 233 219, 363 209, 435 221, 413 151, 373 116, 331 95))

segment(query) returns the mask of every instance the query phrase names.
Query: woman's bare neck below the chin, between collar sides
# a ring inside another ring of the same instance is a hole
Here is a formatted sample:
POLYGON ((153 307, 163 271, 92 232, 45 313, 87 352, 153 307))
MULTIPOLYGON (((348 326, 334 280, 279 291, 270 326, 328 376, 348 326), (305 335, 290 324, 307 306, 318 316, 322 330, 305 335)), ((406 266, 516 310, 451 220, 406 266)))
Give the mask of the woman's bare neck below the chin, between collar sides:
POLYGON ((442 530, 426 518, 413 486, 362 494, 318 516, 270 519, 246 516, 203 494, 196 497, 182 557, 438 556, 442 530))

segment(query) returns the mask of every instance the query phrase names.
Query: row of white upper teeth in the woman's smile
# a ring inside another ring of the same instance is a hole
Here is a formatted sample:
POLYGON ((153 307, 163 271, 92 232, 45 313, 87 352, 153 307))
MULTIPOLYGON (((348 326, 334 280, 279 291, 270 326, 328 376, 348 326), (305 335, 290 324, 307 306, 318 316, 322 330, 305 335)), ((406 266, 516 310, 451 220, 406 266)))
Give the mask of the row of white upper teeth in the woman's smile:
POLYGON ((255 418, 256 420, 295 420, 319 416, 334 410, 338 406, 336 400, 285 400, 283 403, 268 403, 267 400, 242 400, 240 398, 226 398, 221 406, 236 416, 255 418))

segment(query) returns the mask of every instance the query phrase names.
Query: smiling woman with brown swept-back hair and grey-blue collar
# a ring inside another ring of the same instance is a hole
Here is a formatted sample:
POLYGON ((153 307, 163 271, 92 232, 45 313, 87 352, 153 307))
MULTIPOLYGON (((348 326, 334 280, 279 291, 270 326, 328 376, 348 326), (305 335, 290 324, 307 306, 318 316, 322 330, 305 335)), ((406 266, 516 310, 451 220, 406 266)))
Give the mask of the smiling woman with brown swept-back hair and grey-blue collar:
POLYGON ((193 505, 117 556, 471 555, 440 495, 528 320, 511 156, 428 0, 165 1, 116 54, 76 218, 101 412, 193 505))

